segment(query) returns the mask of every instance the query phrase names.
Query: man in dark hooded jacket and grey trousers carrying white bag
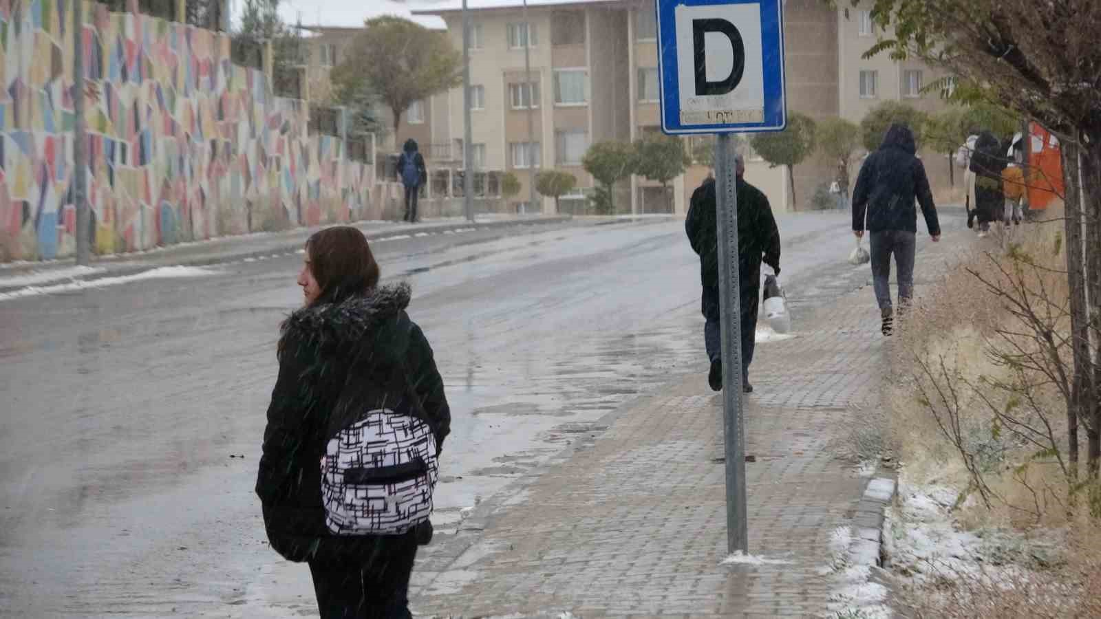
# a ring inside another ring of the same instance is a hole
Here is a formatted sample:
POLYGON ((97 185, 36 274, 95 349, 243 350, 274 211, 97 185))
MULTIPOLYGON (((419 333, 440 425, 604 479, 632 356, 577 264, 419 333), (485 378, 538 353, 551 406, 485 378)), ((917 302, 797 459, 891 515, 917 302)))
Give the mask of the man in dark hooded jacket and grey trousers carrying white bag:
POLYGON ((872 280, 875 301, 883 319, 883 335, 891 335, 891 256, 898 268, 898 304, 914 296, 914 251, 917 209, 922 205, 925 225, 934 241, 940 240, 940 224, 933 203, 925 165, 917 159, 914 133, 903 124, 892 124, 883 144, 864 160, 852 192, 852 231, 858 238, 871 232, 872 280))

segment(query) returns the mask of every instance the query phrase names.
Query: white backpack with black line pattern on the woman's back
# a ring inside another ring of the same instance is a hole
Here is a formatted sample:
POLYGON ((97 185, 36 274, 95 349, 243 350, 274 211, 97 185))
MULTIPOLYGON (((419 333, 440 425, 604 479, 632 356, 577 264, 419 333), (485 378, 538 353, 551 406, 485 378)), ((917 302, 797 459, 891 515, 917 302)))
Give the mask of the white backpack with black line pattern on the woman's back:
POLYGON ((329 532, 401 535, 427 522, 439 479, 432 427, 392 409, 368 410, 352 420, 329 438, 321 458, 329 532))

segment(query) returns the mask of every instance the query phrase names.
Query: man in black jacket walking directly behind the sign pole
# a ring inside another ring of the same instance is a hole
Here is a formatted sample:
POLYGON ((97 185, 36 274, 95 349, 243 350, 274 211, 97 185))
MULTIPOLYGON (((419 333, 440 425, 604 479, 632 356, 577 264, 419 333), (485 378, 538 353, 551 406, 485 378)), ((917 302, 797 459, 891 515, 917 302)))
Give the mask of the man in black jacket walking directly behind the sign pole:
MULTIPOLYGON (((750 362, 756 336, 757 306, 761 300, 761 262, 780 274, 780 230, 772 216, 768 198, 742 177, 745 162, 735 158, 738 174, 738 280, 741 291, 742 391, 752 393, 750 362)), ((708 383, 722 389, 722 345, 719 323, 719 237, 716 214, 715 178, 704 181, 691 195, 685 231, 693 250, 699 254, 700 283, 704 285, 704 344, 711 361, 708 383)))

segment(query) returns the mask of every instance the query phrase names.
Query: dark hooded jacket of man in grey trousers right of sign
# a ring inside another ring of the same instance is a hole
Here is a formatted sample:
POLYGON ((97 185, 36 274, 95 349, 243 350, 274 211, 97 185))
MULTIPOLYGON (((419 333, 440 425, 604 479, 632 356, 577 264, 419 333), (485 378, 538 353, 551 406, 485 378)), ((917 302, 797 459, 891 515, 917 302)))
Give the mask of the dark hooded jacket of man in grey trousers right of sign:
POLYGON ((917 232, 916 199, 922 205, 929 235, 940 235, 929 177, 916 153, 917 145, 909 128, 892 124, 883 144, 868 155, 860 167, 857 186, 852 191, 853 230, 917 232))

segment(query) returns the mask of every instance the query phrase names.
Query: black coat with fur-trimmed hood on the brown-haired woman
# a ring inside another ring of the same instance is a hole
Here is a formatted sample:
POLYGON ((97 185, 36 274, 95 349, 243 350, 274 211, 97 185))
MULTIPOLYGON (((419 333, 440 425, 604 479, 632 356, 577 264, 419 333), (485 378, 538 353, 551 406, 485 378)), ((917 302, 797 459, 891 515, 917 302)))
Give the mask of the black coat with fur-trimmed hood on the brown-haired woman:
POLYGON ((408 284, 380 286, 283 324, 257 495, 268 539, 290 561, 361 562, 399 540, 335 536, 325 524, 320 460, 336 411, 406 412, 428 423, 437 449, 450 432, 444 381, 408 302, 408 284))

